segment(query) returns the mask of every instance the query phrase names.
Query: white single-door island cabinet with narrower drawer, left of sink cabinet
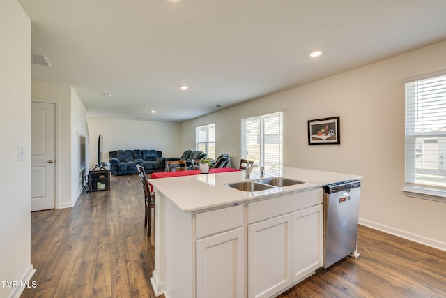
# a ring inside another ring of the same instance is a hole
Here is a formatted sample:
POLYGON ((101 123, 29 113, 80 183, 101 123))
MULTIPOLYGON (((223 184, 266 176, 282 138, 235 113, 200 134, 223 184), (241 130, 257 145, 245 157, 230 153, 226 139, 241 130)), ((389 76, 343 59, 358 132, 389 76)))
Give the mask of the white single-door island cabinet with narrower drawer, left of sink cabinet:
POLYGON ((245 246, 243 206, 197 214, 197 298, 243 298, 245 246), (222 232, 226 231, 226 232, 222 232), (217 233, 217 234, 215 234, 217 233))

